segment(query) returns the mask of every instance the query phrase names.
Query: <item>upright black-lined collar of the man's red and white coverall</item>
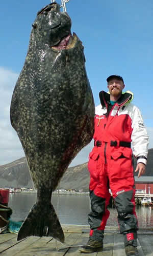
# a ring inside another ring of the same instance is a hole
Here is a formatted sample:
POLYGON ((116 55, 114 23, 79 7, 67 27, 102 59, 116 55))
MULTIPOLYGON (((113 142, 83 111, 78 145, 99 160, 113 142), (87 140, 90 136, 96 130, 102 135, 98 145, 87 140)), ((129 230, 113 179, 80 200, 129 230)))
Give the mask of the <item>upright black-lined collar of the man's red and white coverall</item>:
MULTIPOLYGON (((100 103, 103 107, 107 107, 110 104, 110 93, 105 91, 99 92, 100 103)), ((115 103, 115 105, 123 106, 126 103, 130 103, 133 100, 133 93, 131 91, 122 92, 122 95, 115 103)))

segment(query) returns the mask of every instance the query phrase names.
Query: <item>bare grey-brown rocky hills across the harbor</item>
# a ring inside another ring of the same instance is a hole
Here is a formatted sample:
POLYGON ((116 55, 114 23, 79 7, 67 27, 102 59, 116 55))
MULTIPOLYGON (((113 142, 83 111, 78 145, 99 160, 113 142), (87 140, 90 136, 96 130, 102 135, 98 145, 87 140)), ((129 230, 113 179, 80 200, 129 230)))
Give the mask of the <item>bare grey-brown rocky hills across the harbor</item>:
MULTIPOLYGON (((134 167, 136 167, 136 159, 134 159, 134 167)), ((152 173, 153 148, 149 149, 146 173, 143 176, 152 176, 152 173)), ((134 173, 134 175, 137 176, 138 174, 134 173)), ((25 157, 0 166, 0 187, 33 187, 25 157)), ((87 163, 68 168, 60 182, 60 188, 65 189, 88 190, 88 187, 89 173, 87 163)))

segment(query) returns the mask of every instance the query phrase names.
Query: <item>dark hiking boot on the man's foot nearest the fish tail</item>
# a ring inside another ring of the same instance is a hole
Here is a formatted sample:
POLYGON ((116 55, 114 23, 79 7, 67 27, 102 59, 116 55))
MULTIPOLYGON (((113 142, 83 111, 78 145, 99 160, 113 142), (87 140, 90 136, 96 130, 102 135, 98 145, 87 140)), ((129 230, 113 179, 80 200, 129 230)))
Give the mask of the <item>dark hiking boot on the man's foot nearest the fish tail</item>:
POLYGON ((90 252, 96 252, 96 251, 102 251, 103 250, 103 241, 95 241, 92 239, 89 239, 86 245, 83 245, 79 248, 80 252, 84 253, 90 253, 90 252))

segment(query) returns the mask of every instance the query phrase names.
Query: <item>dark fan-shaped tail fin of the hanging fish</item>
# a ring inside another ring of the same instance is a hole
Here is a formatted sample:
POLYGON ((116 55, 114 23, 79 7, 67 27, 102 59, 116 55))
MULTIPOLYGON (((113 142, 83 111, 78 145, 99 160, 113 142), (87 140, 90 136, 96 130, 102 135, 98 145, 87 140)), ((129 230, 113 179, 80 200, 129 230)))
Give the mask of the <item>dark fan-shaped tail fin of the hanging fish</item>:
POLYGON ((53 237, 64 243, 64 233, 53 205, 34 204, 19 229, 17 241, 30 237, 53 237))

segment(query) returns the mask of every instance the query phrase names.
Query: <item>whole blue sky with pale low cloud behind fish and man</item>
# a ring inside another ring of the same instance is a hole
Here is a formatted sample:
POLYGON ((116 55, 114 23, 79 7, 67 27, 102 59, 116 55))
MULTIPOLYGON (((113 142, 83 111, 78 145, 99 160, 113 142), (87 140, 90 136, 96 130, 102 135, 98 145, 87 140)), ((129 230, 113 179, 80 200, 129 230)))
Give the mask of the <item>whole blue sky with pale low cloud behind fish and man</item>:
MULTIPOLYGON (((9 108, 17 77, 27 54, 31 25, 46 0, 8 0, 1 3, 0 58, 0 165, 24 156, 10 125, 9 108)), ((57 3, 61 4, 60 0, 57 3)), ((94 95, 107 91, 106 78, 120 74, 125 90, 143 115, 153 147, 153 1, 70 0, 66 4, 75 32, 85 47, 86 70, 94 95)), ((62 10, 62 9, 61 9, 62 10)), ((92 143, 75 157, 72 165, 88 161, 92 143)))

